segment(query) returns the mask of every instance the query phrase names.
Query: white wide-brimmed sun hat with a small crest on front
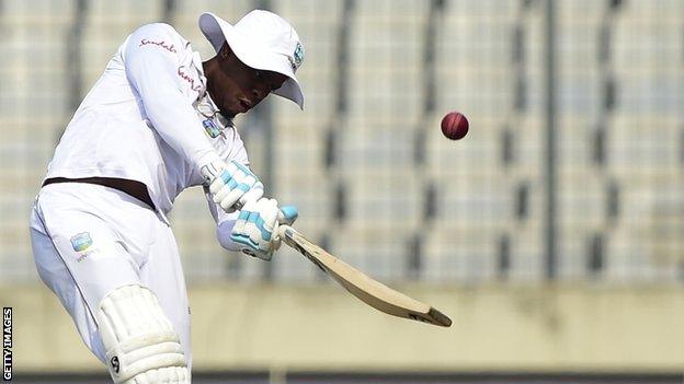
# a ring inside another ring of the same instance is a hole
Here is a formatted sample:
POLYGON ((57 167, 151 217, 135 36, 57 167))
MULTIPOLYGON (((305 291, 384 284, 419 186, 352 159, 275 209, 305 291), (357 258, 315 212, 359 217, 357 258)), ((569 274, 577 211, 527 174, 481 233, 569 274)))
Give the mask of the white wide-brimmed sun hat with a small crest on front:
POLYGON ((273 91, 304 109, 304 93, 295 72, 304 61, 304 47, 295 28, 275 13, 254 10, 235 25, 206 12, 200 16, 200 30, 218 53, 225 42, 248 67, 278 72, 288 79, 273 91))

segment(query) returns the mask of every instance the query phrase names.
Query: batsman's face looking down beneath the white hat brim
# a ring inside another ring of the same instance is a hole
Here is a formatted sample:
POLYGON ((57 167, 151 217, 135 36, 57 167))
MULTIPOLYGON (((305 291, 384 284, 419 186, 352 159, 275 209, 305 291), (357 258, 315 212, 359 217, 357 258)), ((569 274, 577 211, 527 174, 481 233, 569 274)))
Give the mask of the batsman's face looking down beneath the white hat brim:
POLYGON ((224 45, 217 56, 218 70, 207 75, 212 98, 226 116, 243 114, 283 85, 287 77, 250 68, 224 45))

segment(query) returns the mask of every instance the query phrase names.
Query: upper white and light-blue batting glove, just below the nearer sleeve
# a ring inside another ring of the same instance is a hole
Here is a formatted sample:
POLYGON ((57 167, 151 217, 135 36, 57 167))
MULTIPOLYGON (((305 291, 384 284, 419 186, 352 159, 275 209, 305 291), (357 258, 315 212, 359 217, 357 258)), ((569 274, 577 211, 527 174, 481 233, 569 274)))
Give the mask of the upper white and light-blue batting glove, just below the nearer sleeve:
POLYGON ((247 201, 256 201, 263 196, 263 184, 247 166, 231 161, 226 164, 215 161, 202 167, 205 185, 214 202, 231 213, 247 201))

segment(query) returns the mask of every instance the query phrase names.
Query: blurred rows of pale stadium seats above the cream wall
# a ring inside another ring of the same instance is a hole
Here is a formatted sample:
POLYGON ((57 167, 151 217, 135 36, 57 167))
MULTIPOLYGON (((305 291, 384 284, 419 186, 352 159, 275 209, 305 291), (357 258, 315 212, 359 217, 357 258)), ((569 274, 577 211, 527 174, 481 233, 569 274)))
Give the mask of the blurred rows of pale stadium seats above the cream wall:
MULTIPOLYGON (((270 100, 237 123, 253 170, 270 177, 266 191, 299 207, 303 233, 390 281, 545 279, 540 2, 82 4, 0 8, 0 279, 36 279, 25 231, 33 196, 73 108, 125 36, 166 21, 209 58, 197 16, 236 22, 258 5, 297 27, 306 106, 270 100), (438 129, 453 109, 470 120, 461 141, 438 129)), ((558 278, 680 279, 684 2, 554 4, 558 278)), ((289 249, 269 265, 227 255, 205 206, 196 188, 171 216, 189 280, 320 280, 289 249)))

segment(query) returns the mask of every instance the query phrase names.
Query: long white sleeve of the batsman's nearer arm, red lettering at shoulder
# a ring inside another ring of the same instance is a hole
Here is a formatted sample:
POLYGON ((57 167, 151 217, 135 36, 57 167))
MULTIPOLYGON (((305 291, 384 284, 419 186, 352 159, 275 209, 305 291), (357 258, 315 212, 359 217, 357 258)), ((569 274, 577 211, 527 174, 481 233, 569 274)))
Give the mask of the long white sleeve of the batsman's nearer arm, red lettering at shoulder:
POLYGON ((125 44, 126 75, 137 91, 152 128, 196 168, 219 160, 206 139, 192 102, 183 93, 180 55, 185 47, 166 24, 148 24, 125 44))

